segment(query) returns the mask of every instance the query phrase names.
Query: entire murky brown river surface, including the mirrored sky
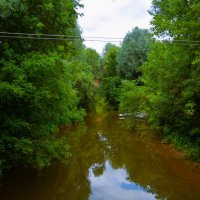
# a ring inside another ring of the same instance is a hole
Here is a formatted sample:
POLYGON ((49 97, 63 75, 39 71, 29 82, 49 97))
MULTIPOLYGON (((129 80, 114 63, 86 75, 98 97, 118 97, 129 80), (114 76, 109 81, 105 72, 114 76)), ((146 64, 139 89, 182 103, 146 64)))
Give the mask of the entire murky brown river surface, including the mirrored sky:
POLYGON ((0 180, 0 200, 198 200, 199 165, 161 144, 143 122, 125 128, 117 113, 89 115, 63 131, 69 165, 38 173, 11 171, 0 180))

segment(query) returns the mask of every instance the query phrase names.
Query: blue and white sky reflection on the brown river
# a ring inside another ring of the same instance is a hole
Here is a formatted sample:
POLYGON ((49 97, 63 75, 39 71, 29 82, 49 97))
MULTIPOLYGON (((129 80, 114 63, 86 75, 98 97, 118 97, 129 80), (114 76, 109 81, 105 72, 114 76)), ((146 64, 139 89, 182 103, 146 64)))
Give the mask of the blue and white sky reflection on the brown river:
POLYGON ((125 169, 114 170, 109 162, 103 175, 95 177, 90 168, 91 195, 89 200, 152 200, 155 195, 127 180, 125 169))

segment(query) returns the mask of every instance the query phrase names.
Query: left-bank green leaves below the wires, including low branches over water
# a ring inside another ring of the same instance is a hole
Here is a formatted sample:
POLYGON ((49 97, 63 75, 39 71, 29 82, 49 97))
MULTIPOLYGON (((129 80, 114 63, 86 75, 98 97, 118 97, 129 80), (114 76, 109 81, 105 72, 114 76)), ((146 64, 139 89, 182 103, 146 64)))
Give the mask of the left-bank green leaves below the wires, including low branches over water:
POLYGON ((38 53, 24 54, 16 63, 2 61, 1 66, 0 140, 7 152, 0 152, 2 167, 16 161, 43 168, 54 159, 65 160, 67 144, 49 136, 84 115, 77 109, 69 65, 57 54, 38 53))

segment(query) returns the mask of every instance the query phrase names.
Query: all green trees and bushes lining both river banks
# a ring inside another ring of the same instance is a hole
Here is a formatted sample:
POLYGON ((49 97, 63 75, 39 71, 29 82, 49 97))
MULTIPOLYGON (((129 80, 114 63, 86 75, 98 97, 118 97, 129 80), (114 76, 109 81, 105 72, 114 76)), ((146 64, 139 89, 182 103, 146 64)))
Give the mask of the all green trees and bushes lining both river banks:
POLYGON ((101 56, 82 43, 82 6, 78 0, 0 2, 1 32, 76 37, 1 38, 0 170, 67 162, 70 147, 56 135, 58 127, 82 121, 99 93, 109 109, 145 112, 164 142, 200 160, 199 3, 153 0, 151 31, 135 27, 120 47, 106 44, 101 56))

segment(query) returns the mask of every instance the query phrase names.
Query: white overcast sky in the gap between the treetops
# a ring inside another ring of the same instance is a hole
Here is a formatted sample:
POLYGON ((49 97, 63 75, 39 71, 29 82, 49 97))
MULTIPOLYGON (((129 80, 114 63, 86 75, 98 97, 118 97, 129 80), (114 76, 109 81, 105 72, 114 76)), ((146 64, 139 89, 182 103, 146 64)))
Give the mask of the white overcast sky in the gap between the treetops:
MULTIPOLYGON (((81 0, 84 14, 79 18, 83 37, 123 38, 135 26, 150 28, 151 0, 81 0)), ((104 42, 85 42, 102 52, 104 42)), ((120 44, 120 43, 115 43, 120 44)))

